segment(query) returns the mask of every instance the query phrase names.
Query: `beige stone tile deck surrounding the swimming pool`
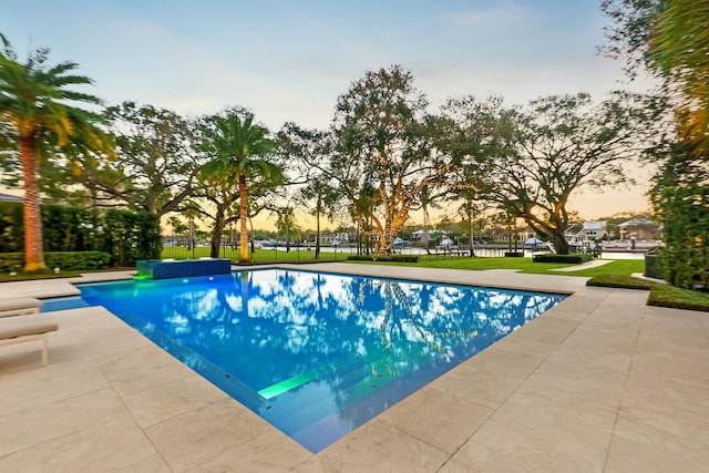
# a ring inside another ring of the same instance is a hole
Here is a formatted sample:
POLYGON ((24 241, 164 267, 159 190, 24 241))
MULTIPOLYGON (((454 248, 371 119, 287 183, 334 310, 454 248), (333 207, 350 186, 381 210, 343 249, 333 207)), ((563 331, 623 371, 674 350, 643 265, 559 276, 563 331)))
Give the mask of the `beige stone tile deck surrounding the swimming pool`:
MULTIPOLYGON (((279 265, 279 267, 294 267, 279 265)), ((573 292, 312 454, 103 308, 0 347, 1 472, 706 472, 709 313, 586 278, 321 264, 298 269, 573 292)), ((0 284, 0 297, 75 294, 0 284)))

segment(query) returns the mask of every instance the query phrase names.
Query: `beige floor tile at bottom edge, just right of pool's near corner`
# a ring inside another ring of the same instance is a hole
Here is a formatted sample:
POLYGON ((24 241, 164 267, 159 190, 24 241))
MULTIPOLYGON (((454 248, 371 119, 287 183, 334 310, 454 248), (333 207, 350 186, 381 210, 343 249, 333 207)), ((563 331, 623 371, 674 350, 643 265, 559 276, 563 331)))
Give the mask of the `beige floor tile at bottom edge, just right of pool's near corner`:
POLYGON ((443 465, 449 454, 374 420, 328 446, 318 456, 325 472, 432 473, 443 465))

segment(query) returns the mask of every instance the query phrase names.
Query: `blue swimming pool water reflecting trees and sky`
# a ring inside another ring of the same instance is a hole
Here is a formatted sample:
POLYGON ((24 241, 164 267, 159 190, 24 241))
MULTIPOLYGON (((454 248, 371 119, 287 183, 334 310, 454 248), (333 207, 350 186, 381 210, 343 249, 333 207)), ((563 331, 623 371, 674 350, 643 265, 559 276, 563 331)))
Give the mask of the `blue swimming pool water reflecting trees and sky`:
POLYGON ((314 453, 565 297, 286 269, 81 291, 314 453))

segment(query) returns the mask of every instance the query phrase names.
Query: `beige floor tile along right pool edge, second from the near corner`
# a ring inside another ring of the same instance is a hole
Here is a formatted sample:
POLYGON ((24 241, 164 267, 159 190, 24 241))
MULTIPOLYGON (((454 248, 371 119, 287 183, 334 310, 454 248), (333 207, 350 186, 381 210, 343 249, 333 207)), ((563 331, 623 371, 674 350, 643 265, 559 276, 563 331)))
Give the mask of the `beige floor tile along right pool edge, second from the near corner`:
POLYGON ((454 453, 490 417, 492 409, 423 388, 377 419, 448 453, 454 453))

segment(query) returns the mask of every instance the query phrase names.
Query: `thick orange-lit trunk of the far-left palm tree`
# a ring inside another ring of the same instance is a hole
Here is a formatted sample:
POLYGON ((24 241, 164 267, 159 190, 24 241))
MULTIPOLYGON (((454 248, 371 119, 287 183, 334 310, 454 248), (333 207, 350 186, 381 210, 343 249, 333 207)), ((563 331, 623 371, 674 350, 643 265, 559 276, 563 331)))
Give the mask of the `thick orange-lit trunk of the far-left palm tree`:
POLYGON ((47 265, 44 264, 42 248, 42 213, 37 185, 37 153, 32 135, 20 137, 20 157, 24 182, 24 199, 22 202, 24 214, 24 270, 40 271, 47 269, 47 265))

